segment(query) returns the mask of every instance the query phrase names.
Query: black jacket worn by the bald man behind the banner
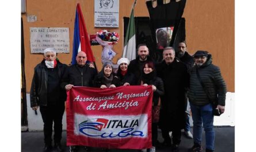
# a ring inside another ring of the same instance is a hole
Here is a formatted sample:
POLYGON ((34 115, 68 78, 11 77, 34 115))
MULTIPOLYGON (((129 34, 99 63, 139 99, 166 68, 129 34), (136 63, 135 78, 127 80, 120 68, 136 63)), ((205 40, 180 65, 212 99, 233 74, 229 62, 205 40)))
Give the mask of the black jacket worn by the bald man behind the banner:
POLYGON ((93 79, 97 75, 97 71, 94 68, 90 68, 88 65, 79 67, 78 64, 71 65, 64 73, 62 84, 63 89, 67 84, 73 84, 75 86, 93 87, 93 79))

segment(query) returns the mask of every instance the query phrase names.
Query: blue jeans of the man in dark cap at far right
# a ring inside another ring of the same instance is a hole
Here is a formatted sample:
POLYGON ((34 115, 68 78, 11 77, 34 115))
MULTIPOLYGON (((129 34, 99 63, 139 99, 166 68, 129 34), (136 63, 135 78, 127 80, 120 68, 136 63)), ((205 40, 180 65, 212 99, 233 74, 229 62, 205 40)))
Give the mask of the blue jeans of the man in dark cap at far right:
POLYGON ((212 105, 196 106, 190 103, 193 118, 193 137, 194 142, 201 145, 202 125, 205 131, 206 149, 214 150, 215 132, 213 130, 212 105))

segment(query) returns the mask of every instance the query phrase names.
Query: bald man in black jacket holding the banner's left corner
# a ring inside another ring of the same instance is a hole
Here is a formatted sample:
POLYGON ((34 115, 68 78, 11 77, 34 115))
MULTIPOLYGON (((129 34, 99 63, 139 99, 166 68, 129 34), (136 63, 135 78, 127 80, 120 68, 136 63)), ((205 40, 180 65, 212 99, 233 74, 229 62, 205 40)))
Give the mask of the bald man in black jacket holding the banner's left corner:
MULTIPOLYGON (((74 86, 93 87, 94 76, 97 70, 93 66, 86 65, 87 56, 85 52, 79 52, 76 57, 77 64, 71 65, 64 73, 60 87, 70 90, 74 86)), ((85 147, 88 151, 89 147, 85 147)), ((78 146, 70 146, 70 152, 78 151, 78 146)))

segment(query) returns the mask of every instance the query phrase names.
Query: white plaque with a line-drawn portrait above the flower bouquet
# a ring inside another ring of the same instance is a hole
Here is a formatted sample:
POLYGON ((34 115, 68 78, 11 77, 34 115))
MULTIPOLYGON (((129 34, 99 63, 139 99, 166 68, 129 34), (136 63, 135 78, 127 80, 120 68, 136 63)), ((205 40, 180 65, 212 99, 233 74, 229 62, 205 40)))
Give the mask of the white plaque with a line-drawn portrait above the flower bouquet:
POLYGON ((119 0, 94 0, 94 27, 119 28, 119 0))

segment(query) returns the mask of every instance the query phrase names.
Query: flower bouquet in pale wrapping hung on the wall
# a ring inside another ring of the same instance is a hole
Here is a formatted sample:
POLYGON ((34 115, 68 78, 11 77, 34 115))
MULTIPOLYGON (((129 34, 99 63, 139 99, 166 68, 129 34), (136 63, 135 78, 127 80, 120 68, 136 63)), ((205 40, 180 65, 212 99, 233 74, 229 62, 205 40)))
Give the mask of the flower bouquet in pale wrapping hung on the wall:
POLYGON ((112 62, 116 52, 112 50, 113 45, 119 41, 119 34, 115 32, 109 32, 108 30, 101 30, 97 32, 96 40, 103 47, 101 52, 101 62, 104 64, 106 61, 112 62))

